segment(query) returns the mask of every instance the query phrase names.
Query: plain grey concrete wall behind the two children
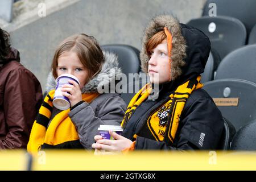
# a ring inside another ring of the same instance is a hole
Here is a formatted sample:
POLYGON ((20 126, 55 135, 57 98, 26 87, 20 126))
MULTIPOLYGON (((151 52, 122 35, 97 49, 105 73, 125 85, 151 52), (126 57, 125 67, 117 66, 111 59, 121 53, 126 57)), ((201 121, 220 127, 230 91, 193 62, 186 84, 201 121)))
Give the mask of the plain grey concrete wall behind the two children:
POLYGON ((38 77, 44 91, 57 45, 70 35, 93 35, 100 45, 141 49, 143 27, 160 13, 180 22, 200 17, 205 0, 1 0, 0 27, 10 32, 21 63, 38 77), (44 11, 46 10, 46 11, 44 11))

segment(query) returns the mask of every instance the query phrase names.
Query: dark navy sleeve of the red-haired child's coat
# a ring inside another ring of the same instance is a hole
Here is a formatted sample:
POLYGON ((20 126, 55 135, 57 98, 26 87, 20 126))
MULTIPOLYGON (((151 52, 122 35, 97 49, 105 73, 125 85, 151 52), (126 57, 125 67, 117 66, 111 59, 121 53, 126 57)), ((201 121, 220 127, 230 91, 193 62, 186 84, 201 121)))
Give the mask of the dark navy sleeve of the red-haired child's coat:
POLYGON ((179 123, 174 146, 165 142, 138 137, 135 149, 139 150, 214 150, 217 148, 224 121, 220 110, 211 98, 189 97, 179 123))

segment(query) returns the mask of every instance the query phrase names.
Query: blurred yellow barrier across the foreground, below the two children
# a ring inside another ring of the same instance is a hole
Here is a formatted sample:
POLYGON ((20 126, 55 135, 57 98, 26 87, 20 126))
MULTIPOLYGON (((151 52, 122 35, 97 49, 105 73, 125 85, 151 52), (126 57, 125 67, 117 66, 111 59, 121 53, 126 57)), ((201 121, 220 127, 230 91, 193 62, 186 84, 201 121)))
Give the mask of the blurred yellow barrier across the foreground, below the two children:
MULTIPOLYGON (((13 151, 12 151, 13 152, 13 151)), ((104 154, 102 154, 104 155, 104 154)), ((1 156, 1 155, 0 155, 1 156)), ((32 163, 32 170, 42 171, 68 171, 68 170, 89 170, 105 171, 106 166, 110 171, 215 171, 215 170, 256 170, 255 152, 231 151, 196 151, 196 152, 175 152, 175 151, 133 151, 126 155, 104 155, 97 156, 93 152, 81 150, 48 150, 46 159, 42 155, 36 156, 32 163), (39 162, 45 162, 43 165, 39 162), (161 162, 160 167, 159 161, 161 162), (68 164, 68 165, 67 165, 68 164), (85 165, 88 164, 88 165, 85 165), (136 164, 136 165, 134 165, 136 164)), ((10 156, 11 159, 12 156, 10 156)), ((1 160, 2 162, 2 160, 1 160)), ((4 165, 5 163, 3 163, 4 165)), ((9 161, 6 162, 7 165, 9 161)), ((3 166, 1 165, 1 166, 3 166)), ((158 173, 158 172, 156 172, 158 173)), ((104 175, 104 172, 102 172, 104 175)), ((161 175, 161 173, 159 173, 161 175)), ((135 178, 135 175, 130 175, 135 178)), ((149 175, 152 177, 152 175, 149 175)), ((99 176, 100 177, 100 176, 99 176)), ((138 175, 137 175, 138 177, 138 175)), ((155 179, 158 176, 155 175, 155 179)), ((136 180, 134 180, 136 181, 136 180)), ((149 180, 148 180, 149 181, 149 180)), ((151 180, 154 181, 154 180, 151 180)))

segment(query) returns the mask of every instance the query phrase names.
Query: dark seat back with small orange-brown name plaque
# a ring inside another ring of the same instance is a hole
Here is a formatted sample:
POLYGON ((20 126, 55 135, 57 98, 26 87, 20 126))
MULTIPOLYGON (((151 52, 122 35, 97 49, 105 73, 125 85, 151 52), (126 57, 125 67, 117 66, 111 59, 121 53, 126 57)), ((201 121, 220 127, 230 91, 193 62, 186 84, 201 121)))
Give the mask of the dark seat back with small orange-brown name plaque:
MULTIPOLYGON (((240 79, 220 79, 204 83, 222 116, 236 130, 256 119, 256 84, 240 79)), ((211 117, 211 116, 209 116, 211 117)))

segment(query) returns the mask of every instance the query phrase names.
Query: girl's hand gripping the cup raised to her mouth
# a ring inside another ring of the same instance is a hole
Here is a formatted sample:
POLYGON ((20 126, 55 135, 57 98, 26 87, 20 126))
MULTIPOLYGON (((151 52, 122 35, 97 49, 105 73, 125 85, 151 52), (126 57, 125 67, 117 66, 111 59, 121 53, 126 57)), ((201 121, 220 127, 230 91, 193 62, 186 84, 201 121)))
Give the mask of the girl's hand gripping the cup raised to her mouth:
POLYGON ((68 97, 71 107, 76 105, 78 102, 82 101, 82 93, 79 84, 76 81, 69 80, 70 84, 65 84, 62 86, 61 91, 63 96, 68 97))

